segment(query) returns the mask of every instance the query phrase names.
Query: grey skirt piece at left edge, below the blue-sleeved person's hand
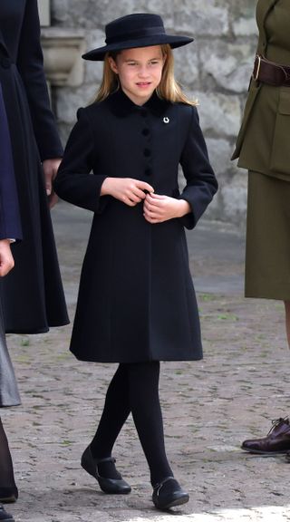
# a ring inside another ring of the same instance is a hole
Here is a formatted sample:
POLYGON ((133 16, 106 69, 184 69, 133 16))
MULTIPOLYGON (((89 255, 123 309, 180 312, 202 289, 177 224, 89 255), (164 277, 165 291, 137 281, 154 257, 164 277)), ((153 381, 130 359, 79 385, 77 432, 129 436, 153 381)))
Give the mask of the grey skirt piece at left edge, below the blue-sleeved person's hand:
POLYGON ((2 304, 0 299, 0 408, 17 406, 20 397, 13 365, 8 353, 3 324, 2 304))

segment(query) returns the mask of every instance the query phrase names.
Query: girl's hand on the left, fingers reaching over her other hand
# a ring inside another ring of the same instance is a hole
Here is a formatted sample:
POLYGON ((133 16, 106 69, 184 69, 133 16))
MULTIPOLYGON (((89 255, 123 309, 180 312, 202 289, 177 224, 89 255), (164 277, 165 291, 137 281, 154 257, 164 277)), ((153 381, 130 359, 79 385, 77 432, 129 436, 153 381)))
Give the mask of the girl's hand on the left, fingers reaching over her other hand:
POLYGON ((101 196, 112 196, 129 207, 135 207, 142 199, 145 199, 144 190, 154 192, 146 181, 131 178, 106 178, 102 183, 101 196))

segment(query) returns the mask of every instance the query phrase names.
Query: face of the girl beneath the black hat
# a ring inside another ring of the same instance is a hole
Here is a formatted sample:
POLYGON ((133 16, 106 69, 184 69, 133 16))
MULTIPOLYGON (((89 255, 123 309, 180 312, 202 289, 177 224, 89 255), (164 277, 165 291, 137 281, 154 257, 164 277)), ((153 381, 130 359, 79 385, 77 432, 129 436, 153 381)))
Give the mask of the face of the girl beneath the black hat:
POLYGON ((159 86, 165 62, 160 45, 125 49, 111 57, 111 70, 118 74, 121 88, 136 105, 143 105, 159 86))

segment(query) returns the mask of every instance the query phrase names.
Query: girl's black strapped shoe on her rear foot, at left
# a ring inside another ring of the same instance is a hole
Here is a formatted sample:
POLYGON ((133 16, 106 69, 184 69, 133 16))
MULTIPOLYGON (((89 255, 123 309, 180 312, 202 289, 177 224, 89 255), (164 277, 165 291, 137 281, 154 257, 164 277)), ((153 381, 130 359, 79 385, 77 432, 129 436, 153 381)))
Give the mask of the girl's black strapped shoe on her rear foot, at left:
POLYGON ((107 457, 106 459, 94 459, 92 457, 92 451, 90 446, 85 449, 82 453, 81 465, 92 477, 96 478, 99 482, 99 486, 104 493, 127 495, 131 492, 131 486, 121 478, 121 474, 116 470, 118 478, 105 478, 101 477, 98 469, 98 465, 102 462, 115 463, 115 459, 107 457))

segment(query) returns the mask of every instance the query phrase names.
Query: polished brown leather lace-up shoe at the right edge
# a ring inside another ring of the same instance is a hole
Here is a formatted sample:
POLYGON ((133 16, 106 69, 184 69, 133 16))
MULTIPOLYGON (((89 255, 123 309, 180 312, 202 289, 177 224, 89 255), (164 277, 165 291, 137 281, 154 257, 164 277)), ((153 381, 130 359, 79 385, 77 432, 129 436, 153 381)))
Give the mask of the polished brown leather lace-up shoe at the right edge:
POLYGON ((262 439, 244 440, 242 449, 250 453, 261 455, 277 455, 290 450, 290 423, 289 419, 272 420, 272 427, 266 437, 262 439))

